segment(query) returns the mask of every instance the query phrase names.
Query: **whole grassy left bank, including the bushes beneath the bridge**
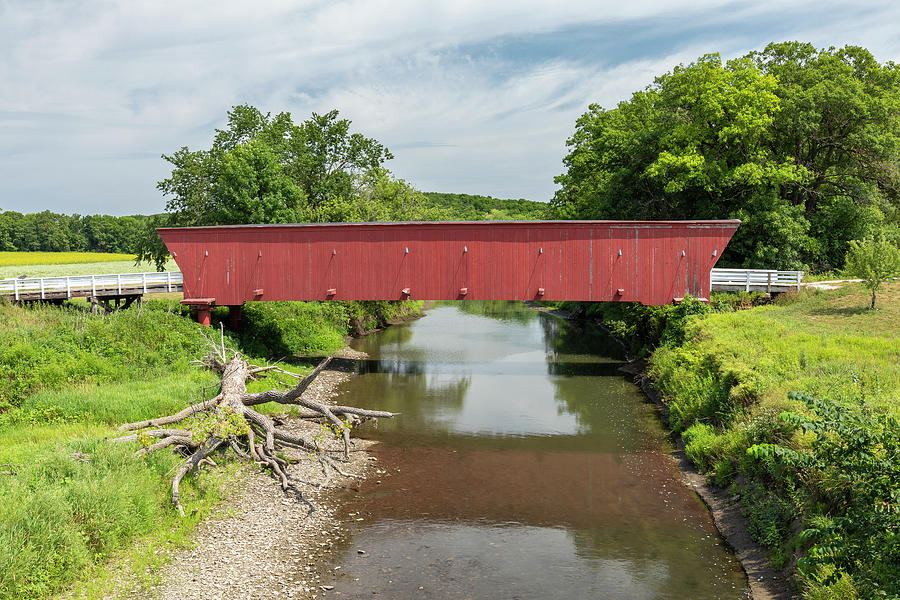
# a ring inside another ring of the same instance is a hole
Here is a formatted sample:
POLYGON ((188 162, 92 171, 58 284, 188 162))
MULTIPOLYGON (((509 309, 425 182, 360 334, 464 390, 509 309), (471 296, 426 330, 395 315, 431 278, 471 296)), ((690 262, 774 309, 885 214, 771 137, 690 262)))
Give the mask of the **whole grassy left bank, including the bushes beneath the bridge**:
MULTIPOLYGON (((358 323, 417 311, 416 303, 257 303, 245 311, 243 334, 226 343, 255 362, 285 358, 303 372, 311 363, 295 355, 328 353, 358 323)), ((133 447, 104 438, 123 422, 215 393, 216 377, 190 365, 206 351, 201 328, 177 302, 163 301, 108 316, 91 315, 83 303, 0 302, 0 320, 0 599, 46 598, 102 578, 110 557, 133 548, 126 579, 152 577, 222 497, 235 468, 188 477, 189 516, 181 520, 170 501, 176 457, 135 459, 133 447)))

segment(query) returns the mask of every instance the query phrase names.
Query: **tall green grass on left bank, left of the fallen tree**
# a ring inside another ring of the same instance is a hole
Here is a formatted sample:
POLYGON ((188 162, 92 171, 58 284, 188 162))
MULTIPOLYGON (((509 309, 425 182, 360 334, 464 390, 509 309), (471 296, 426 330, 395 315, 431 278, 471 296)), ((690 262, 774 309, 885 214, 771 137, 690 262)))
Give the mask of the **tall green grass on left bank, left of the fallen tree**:
MULTIPOLYGON (((189 367, 199 326, 148 303, 93 316, 0 303, 0 598, 44 598, 135 536, 173 525, 171 453, 105 441, 122 422, 177 411, 213 385, 189 367)), ((218 497, 188 483, 195 507, 218 497)), ((196 521, 196 519, 193 519, 196 521)))

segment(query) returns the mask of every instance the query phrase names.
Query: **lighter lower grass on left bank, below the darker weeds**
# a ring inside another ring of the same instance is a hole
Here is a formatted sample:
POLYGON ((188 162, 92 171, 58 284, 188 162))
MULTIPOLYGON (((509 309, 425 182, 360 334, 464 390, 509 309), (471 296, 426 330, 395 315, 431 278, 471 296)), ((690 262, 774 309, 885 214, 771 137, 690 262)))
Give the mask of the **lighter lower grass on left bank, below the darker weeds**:
POLYGON ((189 478, 186 506, 198 514, 182 522, 169 499, 177 457, 134 459, 132 444, 105 438, 117 435, 118 423, 184 407, 214 379, 197 371, 75 386, 36 394, 2 415, 0 464, 15 474, 0 481, 0 598, 48 597, 140 536, 155 536, 156 546, 183 538, 220 498, 215 478, 231 471, 210 483, 206 475, 189 478))

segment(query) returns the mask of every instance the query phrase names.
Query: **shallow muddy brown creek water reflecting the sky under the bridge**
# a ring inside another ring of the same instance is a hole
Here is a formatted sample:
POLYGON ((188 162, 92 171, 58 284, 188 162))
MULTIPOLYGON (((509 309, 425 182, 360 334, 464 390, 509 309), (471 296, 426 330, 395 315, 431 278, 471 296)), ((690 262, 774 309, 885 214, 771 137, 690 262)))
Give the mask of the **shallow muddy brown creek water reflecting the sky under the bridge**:
POLYGON ((458 303, 359 349, 343 400, 403 414, 359 432, 383 472, 348 491, 329 596, 745 597, 602 332, 458 303))

